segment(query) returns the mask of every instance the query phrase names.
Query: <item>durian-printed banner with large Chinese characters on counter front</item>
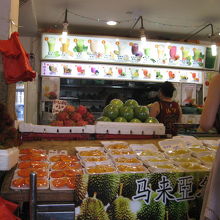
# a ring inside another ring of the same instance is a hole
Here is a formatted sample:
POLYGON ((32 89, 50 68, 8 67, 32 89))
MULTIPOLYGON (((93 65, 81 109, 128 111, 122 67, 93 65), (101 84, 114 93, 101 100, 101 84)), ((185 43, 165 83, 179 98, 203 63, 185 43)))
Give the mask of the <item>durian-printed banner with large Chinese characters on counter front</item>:
POLYGON ((198 219, 208 172, 80 175, 77 220, 198 219))

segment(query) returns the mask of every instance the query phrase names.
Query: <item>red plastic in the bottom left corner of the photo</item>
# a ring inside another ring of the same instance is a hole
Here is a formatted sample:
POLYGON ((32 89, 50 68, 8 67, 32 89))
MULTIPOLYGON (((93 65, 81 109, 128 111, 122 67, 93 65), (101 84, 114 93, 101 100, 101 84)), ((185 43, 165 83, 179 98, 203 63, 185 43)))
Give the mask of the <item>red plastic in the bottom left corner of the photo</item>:
POLYGON ((0 197, 0 220, 20 220, 13 212, 18 205, 0 197))

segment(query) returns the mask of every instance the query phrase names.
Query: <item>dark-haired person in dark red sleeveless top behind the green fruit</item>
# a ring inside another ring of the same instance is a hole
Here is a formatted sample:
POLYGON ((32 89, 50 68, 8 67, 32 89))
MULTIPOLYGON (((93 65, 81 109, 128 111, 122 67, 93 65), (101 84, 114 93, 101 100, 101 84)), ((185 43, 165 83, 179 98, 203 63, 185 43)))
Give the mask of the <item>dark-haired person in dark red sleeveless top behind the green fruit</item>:
POLYGON ((150 105, 150 116, 157 118, 166 127, 166 134, 172 134, 174 123, 181 121, 182 112, 177 102, 173 101, 175 87, 171 82, 164 82, 159 89, 158 102, 150 105))

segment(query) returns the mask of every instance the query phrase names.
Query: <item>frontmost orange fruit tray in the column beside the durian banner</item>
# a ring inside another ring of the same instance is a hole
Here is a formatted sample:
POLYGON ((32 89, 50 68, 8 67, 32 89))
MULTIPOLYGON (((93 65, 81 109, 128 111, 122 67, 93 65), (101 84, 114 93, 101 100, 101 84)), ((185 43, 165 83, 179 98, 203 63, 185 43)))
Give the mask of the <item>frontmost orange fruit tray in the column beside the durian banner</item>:
POLYGON ((75 177, 50 178, 51 190, 74 190, 75 188, 75 177))

